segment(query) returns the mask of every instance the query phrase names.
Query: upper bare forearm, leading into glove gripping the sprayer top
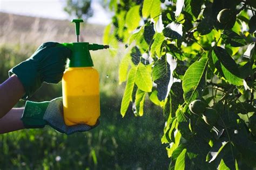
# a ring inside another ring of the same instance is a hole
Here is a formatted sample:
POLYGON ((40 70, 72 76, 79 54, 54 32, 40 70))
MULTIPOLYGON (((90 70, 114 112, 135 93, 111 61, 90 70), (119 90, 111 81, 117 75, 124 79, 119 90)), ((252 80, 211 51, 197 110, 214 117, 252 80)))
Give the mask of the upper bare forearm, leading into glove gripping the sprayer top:
POLYGON ((24 93, 24 87, 16 75, 12 75, 0 85, 0 120, 14 107, 24 93))

